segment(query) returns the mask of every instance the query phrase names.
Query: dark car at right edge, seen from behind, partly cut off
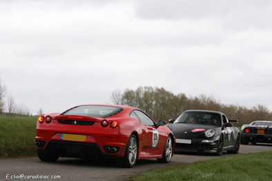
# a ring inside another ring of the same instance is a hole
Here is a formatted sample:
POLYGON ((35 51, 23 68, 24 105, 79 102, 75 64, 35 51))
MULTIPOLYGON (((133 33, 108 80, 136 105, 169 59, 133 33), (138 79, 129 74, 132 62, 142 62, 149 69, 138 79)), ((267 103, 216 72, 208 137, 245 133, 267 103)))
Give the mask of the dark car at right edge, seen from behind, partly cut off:
POLYGON ((249 125, 242 125, 241 144, 248 145, 249 142, 272 143, 272 121, 255 120, 249 125))

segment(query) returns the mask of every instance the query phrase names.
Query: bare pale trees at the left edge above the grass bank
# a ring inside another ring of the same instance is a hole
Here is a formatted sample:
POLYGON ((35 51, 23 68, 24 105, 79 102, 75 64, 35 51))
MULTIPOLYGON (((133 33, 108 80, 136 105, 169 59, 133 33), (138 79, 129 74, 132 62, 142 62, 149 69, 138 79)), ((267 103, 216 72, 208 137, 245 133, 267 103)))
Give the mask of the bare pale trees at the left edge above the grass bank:
POLYGON ((1 82, 0 78, 0 115, 8 116, 30 116, 30 110, 25 105, 17 105, 11 94, 7 92, 7 86, 1 82))

